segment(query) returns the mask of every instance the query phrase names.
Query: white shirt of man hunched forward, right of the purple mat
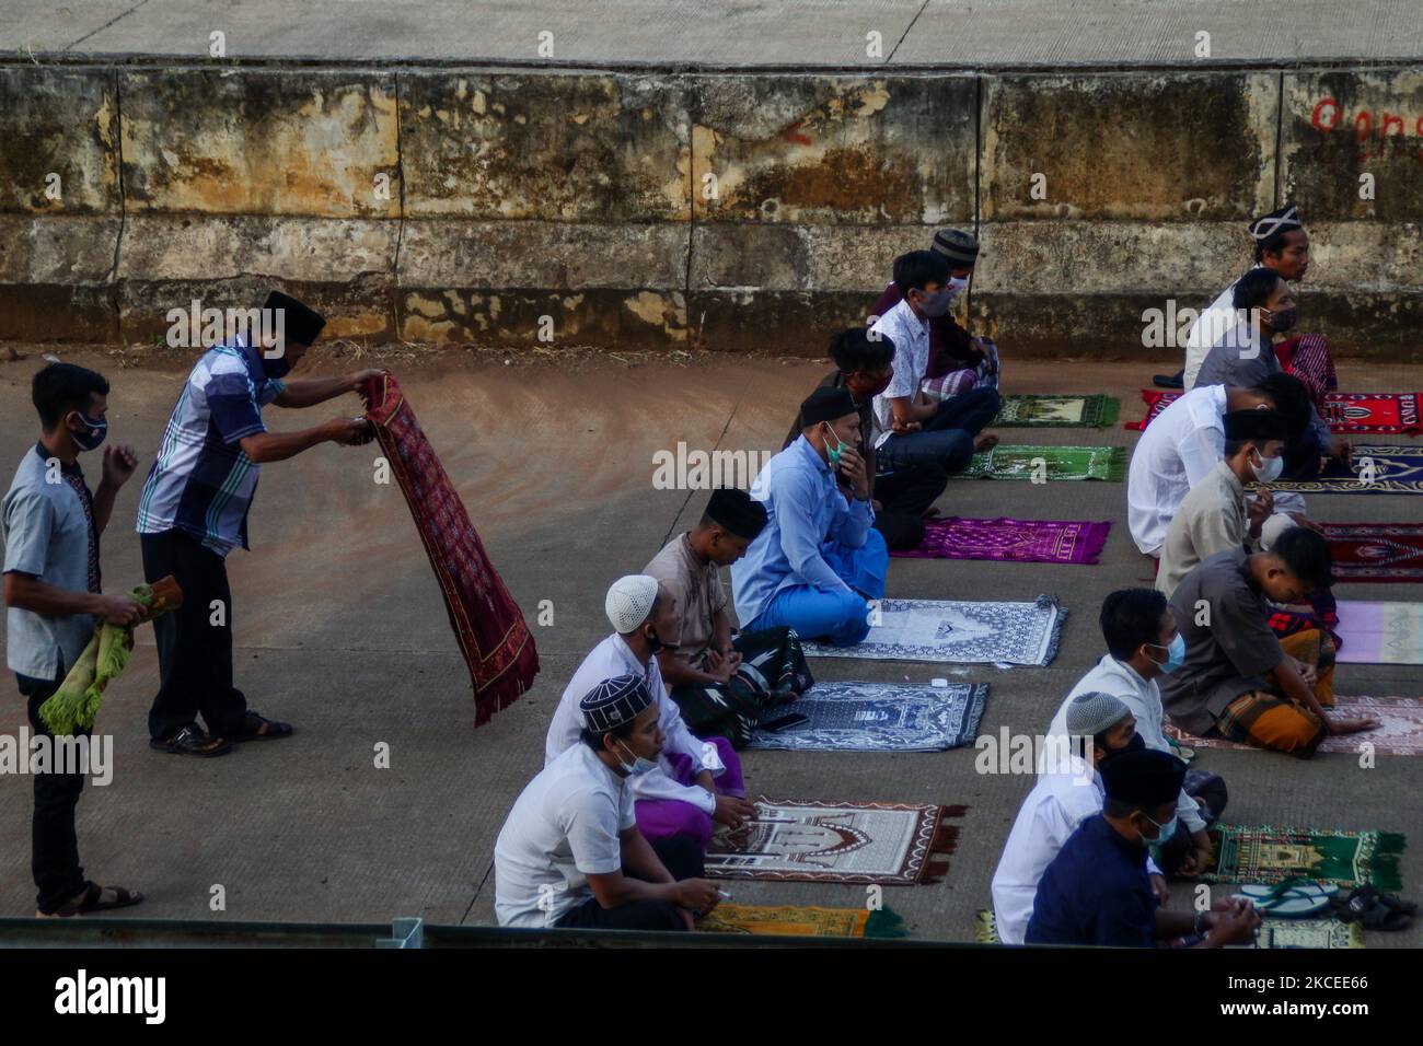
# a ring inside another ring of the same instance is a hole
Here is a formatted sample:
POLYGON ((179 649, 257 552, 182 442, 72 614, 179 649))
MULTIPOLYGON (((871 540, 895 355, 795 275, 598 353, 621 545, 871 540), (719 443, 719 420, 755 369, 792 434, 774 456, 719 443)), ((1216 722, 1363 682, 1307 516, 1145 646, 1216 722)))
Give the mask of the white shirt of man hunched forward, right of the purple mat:
POLYGON ((1181 500, 1225 457, 1225 386, 1181 396, 1146 427, 1127 470, 1127 527, 1158 555, 1181 500))

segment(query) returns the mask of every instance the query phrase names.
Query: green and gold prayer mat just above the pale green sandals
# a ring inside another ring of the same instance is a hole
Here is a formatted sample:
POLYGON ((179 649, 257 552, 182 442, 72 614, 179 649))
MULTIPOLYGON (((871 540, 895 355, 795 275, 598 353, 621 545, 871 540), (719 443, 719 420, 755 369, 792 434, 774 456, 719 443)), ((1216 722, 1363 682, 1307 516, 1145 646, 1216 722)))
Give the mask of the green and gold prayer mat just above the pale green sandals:
POLYGON ((1336 887, 1400 889, 1403 845, 1403 835, 1389 831, 1217 825, 1211 828, 1211 867, 1201 878, 1272 884, 1298 877, 1336 887))

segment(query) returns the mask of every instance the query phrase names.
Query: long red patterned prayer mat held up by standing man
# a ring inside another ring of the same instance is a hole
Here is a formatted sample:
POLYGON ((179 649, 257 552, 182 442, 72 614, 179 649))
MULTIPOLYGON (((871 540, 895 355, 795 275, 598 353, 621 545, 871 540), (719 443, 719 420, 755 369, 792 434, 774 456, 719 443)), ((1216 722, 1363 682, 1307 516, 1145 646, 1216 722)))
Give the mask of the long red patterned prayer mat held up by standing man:
POLYGON ((363 396, 370 404, 366 420, 400 482, 440 582, 450 626, 470 666, 474 724, 481 726, 512 704, 538 675, 534 636, 394 376, 369 381, 363 396))

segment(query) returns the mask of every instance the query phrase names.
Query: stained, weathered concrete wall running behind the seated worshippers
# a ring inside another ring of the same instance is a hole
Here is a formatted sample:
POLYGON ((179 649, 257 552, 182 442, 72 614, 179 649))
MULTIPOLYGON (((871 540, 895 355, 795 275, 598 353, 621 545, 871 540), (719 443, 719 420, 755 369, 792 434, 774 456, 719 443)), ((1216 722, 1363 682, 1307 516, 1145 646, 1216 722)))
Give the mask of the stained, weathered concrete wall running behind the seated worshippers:
POLYGON ((1214 297, 1282 199, 1315 242, 1306 329, 1412 353, 1423 315, 1417 67, 13 64, 0 141, 0 337, 149 340, 280 285, 337 336, 820 354, 956 225, 983 242, 979 329, 1131 356, 1143 312, 1214 297))

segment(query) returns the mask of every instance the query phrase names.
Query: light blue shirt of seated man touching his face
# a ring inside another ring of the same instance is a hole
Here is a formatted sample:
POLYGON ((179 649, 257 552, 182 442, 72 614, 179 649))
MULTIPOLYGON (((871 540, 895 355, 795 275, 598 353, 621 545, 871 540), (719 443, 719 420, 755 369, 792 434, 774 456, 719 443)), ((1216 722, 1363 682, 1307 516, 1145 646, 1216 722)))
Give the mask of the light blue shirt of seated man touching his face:
POLYGON ((795 585, 850 592, 825 562, 821 545, 861 548, 874 511, 868 501, 845 502, 835 472, 804 435, 766 463, 751 497, 766 505, 767 519, 746 555, 731 565, 731 593, 743 626, 795 585))

